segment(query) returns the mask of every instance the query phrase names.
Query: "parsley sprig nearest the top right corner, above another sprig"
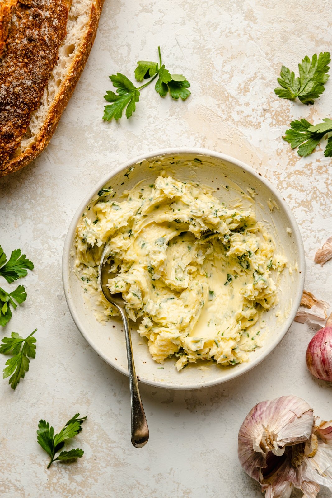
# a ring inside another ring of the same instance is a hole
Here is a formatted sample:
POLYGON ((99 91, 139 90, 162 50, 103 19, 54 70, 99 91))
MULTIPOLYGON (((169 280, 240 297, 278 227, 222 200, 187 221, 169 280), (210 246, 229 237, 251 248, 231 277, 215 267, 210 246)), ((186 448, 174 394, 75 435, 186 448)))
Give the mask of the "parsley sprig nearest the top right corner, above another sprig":
POLYGON ((303 104, 314 104, 325 90, 324 83, 329 79, 327 72, 330 67, 330 52, 321 52, 317 57, 314 54, 312 60, 306 56, 299 64, 300 77, 295 78, 293 71, 286 66, 281 67, 278 83, 280 87, 274 89, 281 99, 294 100, 296 97, 303 104))

